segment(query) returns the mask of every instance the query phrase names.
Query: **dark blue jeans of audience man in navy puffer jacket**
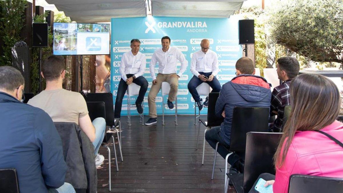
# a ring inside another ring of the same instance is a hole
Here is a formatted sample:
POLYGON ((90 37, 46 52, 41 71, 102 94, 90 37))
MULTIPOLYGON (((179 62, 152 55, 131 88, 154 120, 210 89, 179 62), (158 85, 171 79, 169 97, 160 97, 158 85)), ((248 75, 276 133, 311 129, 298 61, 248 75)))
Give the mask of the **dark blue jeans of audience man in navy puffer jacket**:
MULTIPOLYGON (((225 159, 226 155, 230 152, 228 150, 230 148, 230 145, 225 143, 225 141, 220 136, 219 132, 220 132, 220 126, 212 127, 206 132, 205 139, 213 149, 215 149, 215 145, 217 144, 217 142, 219 142, 217 152, 225 159)), ((241 158, 240 156, 241 154, 240 153, 238 154, 234 152, 228 157, 227 162, 231 166, 233 166, 235 162, 238 161, 239 158, 241 158)), ((244 160, 244 158, 241 158, 241 159, 244 160)))

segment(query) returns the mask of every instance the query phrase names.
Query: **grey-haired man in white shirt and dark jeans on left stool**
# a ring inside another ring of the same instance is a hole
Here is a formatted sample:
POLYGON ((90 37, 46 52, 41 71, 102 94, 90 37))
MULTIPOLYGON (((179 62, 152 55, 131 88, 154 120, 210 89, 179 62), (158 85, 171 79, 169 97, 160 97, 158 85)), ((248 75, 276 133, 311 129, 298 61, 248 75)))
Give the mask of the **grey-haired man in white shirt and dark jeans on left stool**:
POLYGON ((117 91, 116 103, 114 106, 114 117, 120 118, 121 104, 123 102, 123 97, 130 84, 135 83, 141 88, 139 89, 139 95, 135 102, 137 111, 139 114, 143 113, 142 102, 144 100, 144 95, 148 89, 148 81, 142 76, 145 71, 146 59, 145 55, 139 52, 139 47, 141 41, 139 39, 131 40, 131 51, 124 53, 121 56, 120 63, 120 82, 117 91))

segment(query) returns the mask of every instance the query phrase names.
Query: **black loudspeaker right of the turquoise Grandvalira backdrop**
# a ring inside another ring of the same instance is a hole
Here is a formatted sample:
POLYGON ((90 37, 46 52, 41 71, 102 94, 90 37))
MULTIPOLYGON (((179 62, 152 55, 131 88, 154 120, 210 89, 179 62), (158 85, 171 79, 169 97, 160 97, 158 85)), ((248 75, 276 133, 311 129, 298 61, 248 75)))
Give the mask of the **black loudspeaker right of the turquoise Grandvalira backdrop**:
POLYGON ((239 44, 255 44, 254 20, 238 21, 239 44))

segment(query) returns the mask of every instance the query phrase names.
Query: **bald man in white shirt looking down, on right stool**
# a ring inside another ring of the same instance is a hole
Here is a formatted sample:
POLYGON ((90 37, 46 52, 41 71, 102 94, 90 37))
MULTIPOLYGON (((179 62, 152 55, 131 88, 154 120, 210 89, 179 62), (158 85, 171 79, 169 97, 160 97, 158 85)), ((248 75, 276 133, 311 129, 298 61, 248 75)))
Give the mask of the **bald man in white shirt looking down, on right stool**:
POLYGON ((201 111, 204 106, 209 106, 209 98, 206 97, 204 104, 202 104, 202 99, 196 88, 203 82, 210 85, 212 92, 220 92, 222 87, 215 77, 219 71, 217 54, 210 50, 210 41, 208 39, 203 39, 200 46, 201 50, 193 53, 192 56, 191 72, 194 76, 188 83, 188 90, 201 111))

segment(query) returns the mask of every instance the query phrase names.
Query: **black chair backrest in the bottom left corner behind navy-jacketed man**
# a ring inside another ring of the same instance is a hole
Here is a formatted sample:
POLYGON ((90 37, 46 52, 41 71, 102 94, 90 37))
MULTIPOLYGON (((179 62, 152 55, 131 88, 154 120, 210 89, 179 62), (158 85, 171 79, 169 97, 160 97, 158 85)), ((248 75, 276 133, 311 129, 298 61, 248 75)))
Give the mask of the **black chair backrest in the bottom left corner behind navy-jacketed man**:
POLYGON ((19 193, 17 171, 14 168, 0 169, 0 192, 19 193))

